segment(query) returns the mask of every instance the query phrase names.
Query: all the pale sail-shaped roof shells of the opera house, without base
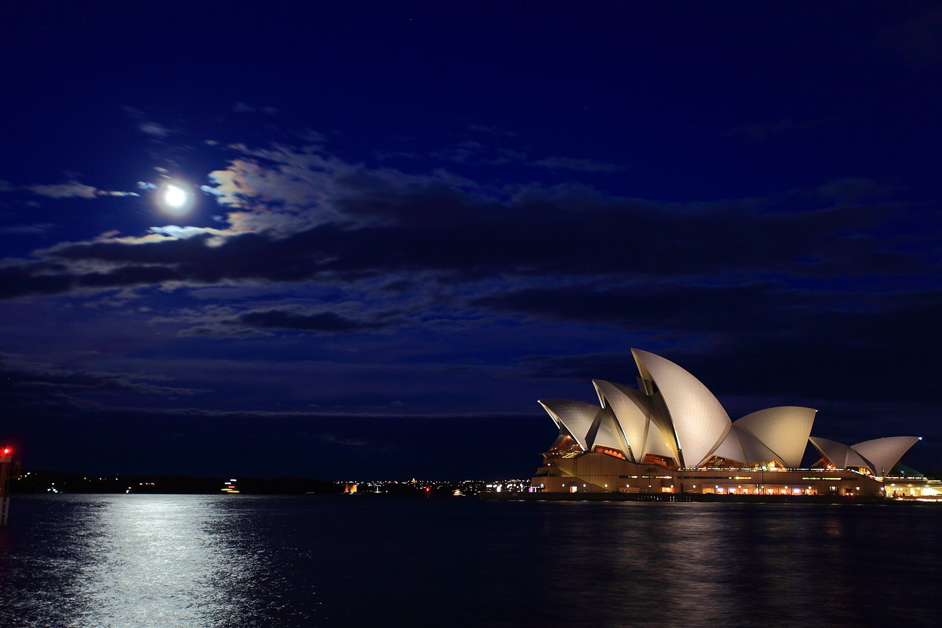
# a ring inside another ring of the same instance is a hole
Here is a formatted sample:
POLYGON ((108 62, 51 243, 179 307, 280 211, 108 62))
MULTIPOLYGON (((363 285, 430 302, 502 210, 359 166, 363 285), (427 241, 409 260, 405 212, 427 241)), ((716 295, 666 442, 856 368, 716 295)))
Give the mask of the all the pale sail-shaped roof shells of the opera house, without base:
POLYGON ((777 460, 796 469, 810 441, 838 469, 858 467, 886 475, 918 441, 915 436, 896 436, 848 446, 809 438, 817 411, 800 406, 766 408, 733 423, 699 379, 653 353, 631 352, 641 373, 640 390, 593 379, 600 406, 566 399, 540 401, 583 451, 597 444, 633 462, 643 463, 652 454, 687 468, 718 456, 741 463, 777 460))

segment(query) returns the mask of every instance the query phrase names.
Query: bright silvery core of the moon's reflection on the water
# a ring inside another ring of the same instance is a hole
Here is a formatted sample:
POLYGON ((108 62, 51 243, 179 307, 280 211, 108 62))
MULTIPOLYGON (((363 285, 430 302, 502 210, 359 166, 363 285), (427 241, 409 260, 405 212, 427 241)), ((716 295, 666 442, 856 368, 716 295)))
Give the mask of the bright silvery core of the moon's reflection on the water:
POLYGON ((257 566, 218 534, 224 517, 194 498, 112 497, 90 523, 101 530, 89 539, 97 559, 76 579, 76 597, 85 602, 76 625, 217 626, 238 617, 238 597, 229 591, 257 566))

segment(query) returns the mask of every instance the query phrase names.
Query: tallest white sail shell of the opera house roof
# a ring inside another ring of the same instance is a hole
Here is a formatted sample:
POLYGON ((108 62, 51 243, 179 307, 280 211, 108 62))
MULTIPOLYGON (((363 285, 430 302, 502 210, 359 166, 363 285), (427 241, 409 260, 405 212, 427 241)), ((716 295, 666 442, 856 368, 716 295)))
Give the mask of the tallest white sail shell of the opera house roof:
POLYGON ((729 415, 706 386, 669 360, 631 349, 642 378, 654 381, 670 413, 683 465, 700 466, 729 431, 729 415))

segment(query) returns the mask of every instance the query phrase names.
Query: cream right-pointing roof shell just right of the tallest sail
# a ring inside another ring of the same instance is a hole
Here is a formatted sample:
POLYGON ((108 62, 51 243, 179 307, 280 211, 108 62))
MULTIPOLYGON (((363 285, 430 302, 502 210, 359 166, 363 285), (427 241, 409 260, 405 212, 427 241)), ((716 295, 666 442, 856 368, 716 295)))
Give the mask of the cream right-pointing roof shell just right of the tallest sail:
POLYGON ((746 414, 733 425, 771 449, 774 459, 789 469, 797 469, 802 464, 816 412, 800 406, 778 406, 746 414))

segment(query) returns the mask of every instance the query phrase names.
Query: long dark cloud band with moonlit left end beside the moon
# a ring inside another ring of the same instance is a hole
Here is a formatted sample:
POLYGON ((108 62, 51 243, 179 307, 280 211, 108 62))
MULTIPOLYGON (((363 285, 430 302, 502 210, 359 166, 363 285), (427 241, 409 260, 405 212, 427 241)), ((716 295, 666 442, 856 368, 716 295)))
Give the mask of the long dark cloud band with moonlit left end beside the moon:
MULTIPOLYGON (((227 210, 221 228, 62 242, 0 266, 0 298, 403 273, 450 283, 719 273, 784 279, 920 274, 937 264, 928 245, 885 233, 907 211, 899 203, 829 206, 817 194, 806 195, 820 203, 810 207, 788 198, 671 203, 578 185, 528 185, 508 195, 446 170, 416 175, 350 164, 317 145, 231 150, 240 154, 204 187, 227 210)), ((100 192, 72 184, 55 191, 67 190, 86 198, 100 192)))

